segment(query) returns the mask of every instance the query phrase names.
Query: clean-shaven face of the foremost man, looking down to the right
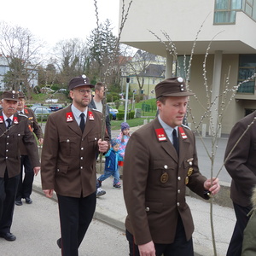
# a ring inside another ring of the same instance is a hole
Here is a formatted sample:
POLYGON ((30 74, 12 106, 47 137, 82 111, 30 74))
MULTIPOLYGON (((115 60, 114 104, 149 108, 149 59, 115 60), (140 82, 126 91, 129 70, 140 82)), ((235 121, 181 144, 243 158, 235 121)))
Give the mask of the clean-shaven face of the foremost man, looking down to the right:
POLYGON ((182 125, 189 97, 188 96, 166 96, 166 102, 157 101, 160 118, 172 128, 182 125))

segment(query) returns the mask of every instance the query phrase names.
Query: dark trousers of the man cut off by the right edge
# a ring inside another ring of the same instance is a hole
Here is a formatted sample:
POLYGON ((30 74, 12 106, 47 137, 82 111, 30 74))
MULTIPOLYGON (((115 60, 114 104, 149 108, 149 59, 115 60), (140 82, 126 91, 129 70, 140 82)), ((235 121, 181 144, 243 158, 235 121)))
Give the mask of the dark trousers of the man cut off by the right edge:
POLYGON ((233 206, 236 213, 236 225, 231 237, 227 256, 241 256, 243 231, 250 218, 247 214, 251 211, 252 207, 241 207, 234 202, 233 206))

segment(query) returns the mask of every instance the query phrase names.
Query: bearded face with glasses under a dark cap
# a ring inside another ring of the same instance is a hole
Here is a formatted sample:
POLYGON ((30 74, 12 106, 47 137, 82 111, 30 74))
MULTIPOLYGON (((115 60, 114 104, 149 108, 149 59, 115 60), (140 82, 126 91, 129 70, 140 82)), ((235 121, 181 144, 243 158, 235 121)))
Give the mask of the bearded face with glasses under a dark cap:
POLYGON ((91 101, 90 86, 84 85, 70 90, 70 96, 73 99, 73 105, 79 110, 87 107, 91 101))

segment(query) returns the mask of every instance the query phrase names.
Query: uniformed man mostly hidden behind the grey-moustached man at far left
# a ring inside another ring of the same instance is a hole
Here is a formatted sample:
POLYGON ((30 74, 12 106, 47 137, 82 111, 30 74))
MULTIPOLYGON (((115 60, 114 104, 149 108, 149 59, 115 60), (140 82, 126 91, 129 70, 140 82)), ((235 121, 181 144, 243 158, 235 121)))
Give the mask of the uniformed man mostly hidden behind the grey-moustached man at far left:
MULTIPOLYGON (((17 112, 20 114, 25 114, 28 117, 28 122, 32 131, 38 137, 39 145, 42 145, 44 142, 43 131, 41 126, 38 125, 38 121, 35 117, 35 114, 32 112, 32 109, 25 108, 25 96, 23 92, 19 91, 19 102, 17 107, 17 112)), ((34 180, 34 172, 32 170, 31 162, 26 152, 26 147, 23 143, 20 144, 20 182, 15 199, 16 206, 22 206, 21 199, 24 198, 27 204, 32 204, 32 199, 30 195, 32 194, 32 183, 34 180), (23 178, 23 166, 24 166, 24 178, 23 178)))

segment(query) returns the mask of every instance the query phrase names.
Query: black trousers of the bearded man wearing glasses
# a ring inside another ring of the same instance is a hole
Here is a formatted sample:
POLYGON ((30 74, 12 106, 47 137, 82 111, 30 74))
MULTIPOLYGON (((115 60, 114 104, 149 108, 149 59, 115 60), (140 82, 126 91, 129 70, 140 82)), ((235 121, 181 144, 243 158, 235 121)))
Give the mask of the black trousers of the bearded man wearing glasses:
POLYGON ((62 256, 78 256, 79 245, 96 209, 96 193, 86 197, 58 196, 62 256))

